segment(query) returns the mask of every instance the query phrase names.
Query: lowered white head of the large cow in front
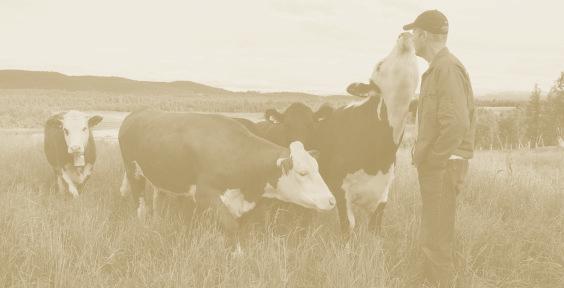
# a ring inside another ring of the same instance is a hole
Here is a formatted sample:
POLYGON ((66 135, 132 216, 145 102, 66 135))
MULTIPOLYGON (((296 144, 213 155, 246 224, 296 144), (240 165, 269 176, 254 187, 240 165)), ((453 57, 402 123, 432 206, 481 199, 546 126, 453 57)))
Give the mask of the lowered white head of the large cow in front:
POLYGON ((264 197, 318 210, 335 207, 335 197, 321 178, 319 166, 312 156, 315 153, 304 149, 301 142, 290 144, 290 155, 278 159, 280 177, 274 189, 267 189, 264 197))

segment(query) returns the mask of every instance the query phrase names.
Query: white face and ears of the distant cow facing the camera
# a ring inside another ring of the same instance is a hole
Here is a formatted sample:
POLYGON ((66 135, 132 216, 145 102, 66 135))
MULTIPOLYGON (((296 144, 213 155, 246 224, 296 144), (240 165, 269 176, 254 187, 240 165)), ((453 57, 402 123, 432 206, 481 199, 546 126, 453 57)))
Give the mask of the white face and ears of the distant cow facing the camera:
POLYGON ((84 151, 91 135, 90 128, 102 121, 102 116, 88 116, 79 111, 57 114, 47 120, 47 125, 61 129, 67 152, 74 156, 74 166, 84 166, 84 151))

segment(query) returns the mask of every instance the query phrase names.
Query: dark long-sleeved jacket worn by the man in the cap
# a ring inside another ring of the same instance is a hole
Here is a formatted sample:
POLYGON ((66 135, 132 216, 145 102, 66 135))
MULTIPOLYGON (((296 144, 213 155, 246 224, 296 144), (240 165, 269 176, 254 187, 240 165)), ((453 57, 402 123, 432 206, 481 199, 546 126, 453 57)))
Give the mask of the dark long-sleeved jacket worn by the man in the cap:
POLYGON ((460 61, 443 48, 422 76, 416 166, 446 166, 451 156, 474 155, 475 112, 470 77, 460 61))

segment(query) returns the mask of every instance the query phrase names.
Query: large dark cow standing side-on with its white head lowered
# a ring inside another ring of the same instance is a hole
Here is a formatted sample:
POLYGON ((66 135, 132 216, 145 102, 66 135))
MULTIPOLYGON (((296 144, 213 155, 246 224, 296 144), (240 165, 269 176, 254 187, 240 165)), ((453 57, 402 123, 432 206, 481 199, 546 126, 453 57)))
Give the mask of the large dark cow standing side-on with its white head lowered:
POLYGON ((121 192, 131 192, 139 218, 146 213, 146 180, 159 191, 191 195, 200 211, 214 208, 230 235, 263 197, 316 210, 335 206, 301 142, 276 145, 222 115, 141 110, 125 118, 118 140, 121 192))

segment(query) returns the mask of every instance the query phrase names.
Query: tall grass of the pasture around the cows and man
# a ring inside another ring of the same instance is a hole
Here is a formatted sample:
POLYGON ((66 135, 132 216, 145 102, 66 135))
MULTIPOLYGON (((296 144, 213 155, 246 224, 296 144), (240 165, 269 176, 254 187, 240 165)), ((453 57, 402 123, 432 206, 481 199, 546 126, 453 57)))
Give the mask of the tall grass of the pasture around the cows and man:
MULTIPOLYGON (((87 191, 65 200, 41 143, 3 137, 1 287, 409 287, 414 278, 420 198, 407 151, 381 237, 361 225, 345 243, 332 211, 301 238, 267 223, 232 257, 209 221, 139 223, 119 196, 117 145, 98 150, 87 191)), ((476 155, 457 218, 457 270, 468 287, 564 287, 562 175, 558 150, 476 155)))

